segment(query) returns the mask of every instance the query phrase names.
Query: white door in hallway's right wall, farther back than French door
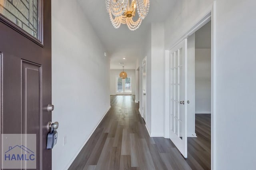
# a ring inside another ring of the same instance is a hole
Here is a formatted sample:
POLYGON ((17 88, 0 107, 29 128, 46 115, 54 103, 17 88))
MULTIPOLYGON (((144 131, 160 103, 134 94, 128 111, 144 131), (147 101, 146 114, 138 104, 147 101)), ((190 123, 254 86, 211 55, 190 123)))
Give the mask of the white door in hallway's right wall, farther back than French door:
POLYGON ((142 63, 142 115, 143 119, 146 122, 146 58, 143 60, 142 63))

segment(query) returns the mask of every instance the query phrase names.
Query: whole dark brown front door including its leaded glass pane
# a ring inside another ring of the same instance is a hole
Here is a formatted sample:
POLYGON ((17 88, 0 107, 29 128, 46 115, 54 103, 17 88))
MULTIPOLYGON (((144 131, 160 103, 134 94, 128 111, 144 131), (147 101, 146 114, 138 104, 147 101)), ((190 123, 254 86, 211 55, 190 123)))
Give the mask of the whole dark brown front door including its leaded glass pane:
POLYGON ((51 1, 0 0, 1 168, 51 169, 51 74, 51 1))

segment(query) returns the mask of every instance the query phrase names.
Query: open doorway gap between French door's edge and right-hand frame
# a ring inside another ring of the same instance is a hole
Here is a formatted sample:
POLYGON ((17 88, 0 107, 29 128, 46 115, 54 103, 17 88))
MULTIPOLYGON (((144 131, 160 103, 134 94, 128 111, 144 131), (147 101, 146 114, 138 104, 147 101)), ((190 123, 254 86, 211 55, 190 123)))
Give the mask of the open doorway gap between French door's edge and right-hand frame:
POLYGON ((211 30, 209 21, 188 37, 187 162, 192 169, 211 169, 211 30), (200 166, 190 163, 193 159, 200 166))

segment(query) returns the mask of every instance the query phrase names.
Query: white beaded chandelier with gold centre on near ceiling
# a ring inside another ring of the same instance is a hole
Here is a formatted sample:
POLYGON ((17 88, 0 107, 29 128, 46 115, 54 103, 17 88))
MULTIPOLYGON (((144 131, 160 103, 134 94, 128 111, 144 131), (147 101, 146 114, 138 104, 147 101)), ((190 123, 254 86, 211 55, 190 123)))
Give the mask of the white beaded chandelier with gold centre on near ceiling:
POLYGON ((114 28, 126 24, 131 31, 140 27, 142 20, 148 14, 149 6, 150 0, 106 0, 107 12, 114 28), (134 22, 136 9, 138 20, 134 22))

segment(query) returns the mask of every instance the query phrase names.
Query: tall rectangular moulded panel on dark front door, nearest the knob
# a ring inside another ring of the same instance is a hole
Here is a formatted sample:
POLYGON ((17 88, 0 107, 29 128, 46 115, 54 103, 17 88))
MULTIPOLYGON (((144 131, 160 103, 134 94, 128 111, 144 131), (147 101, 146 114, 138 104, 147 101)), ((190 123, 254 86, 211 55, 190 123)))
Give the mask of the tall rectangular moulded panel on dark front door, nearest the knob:
POLYGON ((36 164, 42 162, 41 66, 22 60, 22 134, 36 134, 36 164), (33 128, 31 128, 33 127, 33 128), (41 140, 40 140, 41 139, 41 140))

